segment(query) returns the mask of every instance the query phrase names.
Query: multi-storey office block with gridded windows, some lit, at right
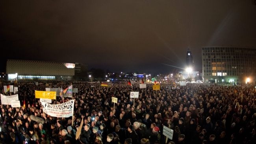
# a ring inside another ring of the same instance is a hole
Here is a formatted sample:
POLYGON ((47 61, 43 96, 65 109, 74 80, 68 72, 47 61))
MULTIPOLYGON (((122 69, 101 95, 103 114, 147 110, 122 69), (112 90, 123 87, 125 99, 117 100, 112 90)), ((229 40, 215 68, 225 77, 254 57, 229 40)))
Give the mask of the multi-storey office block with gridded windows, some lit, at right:
POLYGON ((254 83, 256 49, 239 47, 202 47, 204 82, 254 83))

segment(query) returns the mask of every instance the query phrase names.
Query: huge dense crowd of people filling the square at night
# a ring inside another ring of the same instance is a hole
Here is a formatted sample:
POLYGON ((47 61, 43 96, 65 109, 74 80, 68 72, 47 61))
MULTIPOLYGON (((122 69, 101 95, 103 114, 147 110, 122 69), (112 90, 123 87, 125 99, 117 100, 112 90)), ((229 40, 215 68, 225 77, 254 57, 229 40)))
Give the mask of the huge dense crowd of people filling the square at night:
MULTIPOLYGON (((47 87, 70 83, 49 82, 47 87)), ((4 93, 3 84, 0 87, 4 93)), ((7 84, 6 84, 7 85, 7 84)), ((46 83, 17 83, 20 108, 0 107, 2 144, 255 144, 256 89, 252 85, 162 83, 160 90, 138 84, 76 82, 72 98, 57 97, 53 104, 75 100, 74 115, 59 118, 43 113, 35 90, 46 83), (130 92, 139 98, 130 98, 130 92), (118 98, 114 103, 111 97, 118 98), (25 101, 25 107, 23 106, 25 101), (34 117, 45 122, 33 121, 34 117), (79 126, 83 120, 82 130, 79 126), (163 135, 173 129, 173 138, 163 135), (80 133, 76 139, 76 133, 80 133)))

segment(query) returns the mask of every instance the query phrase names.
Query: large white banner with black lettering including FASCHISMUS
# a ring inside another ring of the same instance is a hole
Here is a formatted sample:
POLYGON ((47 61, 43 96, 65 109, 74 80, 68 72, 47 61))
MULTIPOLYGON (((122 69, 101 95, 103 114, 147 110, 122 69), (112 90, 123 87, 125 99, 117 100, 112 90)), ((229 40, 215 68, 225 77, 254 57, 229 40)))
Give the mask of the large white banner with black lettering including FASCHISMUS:
POLYGON ((70 100, 58 105, 52 105, 46 103, 44 100, 41 100, 41 104, 43 107, 43 112, 53 117, 68 118, 73 116, 74 113, 74 100, 70 100))

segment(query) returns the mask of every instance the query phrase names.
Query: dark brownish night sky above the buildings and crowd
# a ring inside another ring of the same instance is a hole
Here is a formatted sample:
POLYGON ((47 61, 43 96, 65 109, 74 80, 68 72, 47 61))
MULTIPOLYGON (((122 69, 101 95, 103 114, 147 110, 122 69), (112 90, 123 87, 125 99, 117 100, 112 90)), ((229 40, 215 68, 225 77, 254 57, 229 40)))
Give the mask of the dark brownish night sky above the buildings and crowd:
POLYGON ((172 72, 202 46, 256 47, 252 0, 1 0, 6 59, 84 63, 113 72, 172 72))

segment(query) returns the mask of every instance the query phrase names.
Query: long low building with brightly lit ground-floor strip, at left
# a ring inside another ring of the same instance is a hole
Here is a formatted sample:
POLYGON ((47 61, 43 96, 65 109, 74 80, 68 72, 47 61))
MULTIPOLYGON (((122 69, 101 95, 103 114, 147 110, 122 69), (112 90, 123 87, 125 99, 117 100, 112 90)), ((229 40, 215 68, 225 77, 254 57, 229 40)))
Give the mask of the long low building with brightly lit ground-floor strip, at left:
POLYGON ((71 81, 75 74, 75 64, 8 59, 6 73, 9 81, 71 81))

